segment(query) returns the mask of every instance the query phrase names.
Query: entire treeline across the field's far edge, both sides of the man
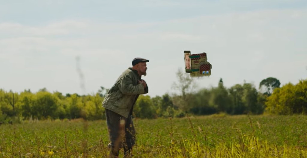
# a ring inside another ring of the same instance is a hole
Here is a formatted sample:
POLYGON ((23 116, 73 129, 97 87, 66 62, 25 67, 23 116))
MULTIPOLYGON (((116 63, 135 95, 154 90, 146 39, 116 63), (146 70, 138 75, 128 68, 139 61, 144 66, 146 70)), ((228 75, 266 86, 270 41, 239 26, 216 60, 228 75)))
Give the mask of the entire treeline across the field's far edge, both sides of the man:
MULTIPOLYGON (((180 94, 140 95, 134 106, 134 116, 152 119, 216 113, 307 114, 307 80, 280 87, 278 79, 269 77, 262 80, 258 88, 251 83, 226 88, 220 79, 216 87, 193 91, 196 87, 194 79, 182 71, 177 72, 177 77, 178 82, 174 83, 173 88, 180 94)), ((0 124, 29 119, 105 119, 101 103, 106 92, 107 89, 103 87, 95 94, 84 96, 51 93, 45 88, 36 93, 0 89, 0 124)))

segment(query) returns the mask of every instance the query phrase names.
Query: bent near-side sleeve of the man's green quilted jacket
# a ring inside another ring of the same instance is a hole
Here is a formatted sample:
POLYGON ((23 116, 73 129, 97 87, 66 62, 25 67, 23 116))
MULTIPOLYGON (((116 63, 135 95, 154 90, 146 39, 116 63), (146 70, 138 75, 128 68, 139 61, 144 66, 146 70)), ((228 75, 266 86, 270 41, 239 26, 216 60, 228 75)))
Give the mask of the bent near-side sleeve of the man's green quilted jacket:
POLYGON ((144 86, 142 84, 133 85, 131 76, 127 74, 120 80, 119 90, 126 95, 143 94, 145 92, 144 86))

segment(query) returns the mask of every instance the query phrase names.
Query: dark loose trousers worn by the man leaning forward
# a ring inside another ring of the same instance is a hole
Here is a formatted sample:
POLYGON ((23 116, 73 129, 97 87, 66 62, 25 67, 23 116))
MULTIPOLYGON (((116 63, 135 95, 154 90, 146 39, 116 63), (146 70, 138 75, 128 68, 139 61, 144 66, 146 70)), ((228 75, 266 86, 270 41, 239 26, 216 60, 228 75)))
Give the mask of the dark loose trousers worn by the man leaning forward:
POLYGON ((135 145, 135 129, 132 115, 125 118, 106 109, 106 119, 111 141, 111 153, 114 156, 118 156, 120 148, 124 148, 125 154, 127 154, 135 145))

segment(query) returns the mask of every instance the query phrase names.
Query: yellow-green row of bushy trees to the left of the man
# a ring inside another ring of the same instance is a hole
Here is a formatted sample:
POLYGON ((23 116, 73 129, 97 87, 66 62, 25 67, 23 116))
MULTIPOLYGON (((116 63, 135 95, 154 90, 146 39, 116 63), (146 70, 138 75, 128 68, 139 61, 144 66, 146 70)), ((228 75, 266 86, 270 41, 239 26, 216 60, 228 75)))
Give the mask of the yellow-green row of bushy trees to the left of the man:
POLYGON ((99 92, 64 96, 60 92, 48 92, 45 88, 36 93, 25 90, 20 94, 0 89, 0 123, 25 119, 101 119, 104 112, 102 100, 99 92))

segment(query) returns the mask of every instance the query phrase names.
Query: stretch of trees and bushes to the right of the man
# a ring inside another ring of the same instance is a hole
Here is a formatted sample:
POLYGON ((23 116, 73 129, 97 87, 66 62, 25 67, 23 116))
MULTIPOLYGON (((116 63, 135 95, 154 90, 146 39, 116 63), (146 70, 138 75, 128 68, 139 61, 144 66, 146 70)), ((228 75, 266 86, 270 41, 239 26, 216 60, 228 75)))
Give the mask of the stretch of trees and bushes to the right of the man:
MULTIPOLYGON (((197 87, 189 74, 178 70, 178 82, 173 88, 180 94, 163 96, 140 96, 136 102, 135 115, 139 118, 183 117, 186 114, 228 115, 261 114, 307 114, 307 79, 298 84, 288 83, 280 87, 274 77, 263 79, 258 87, 244 82, 230 88, 223 85, 222 78, 216 87, 193 91, 197 87)), ((205 79, 204 79, 205 81, 205 79)))

